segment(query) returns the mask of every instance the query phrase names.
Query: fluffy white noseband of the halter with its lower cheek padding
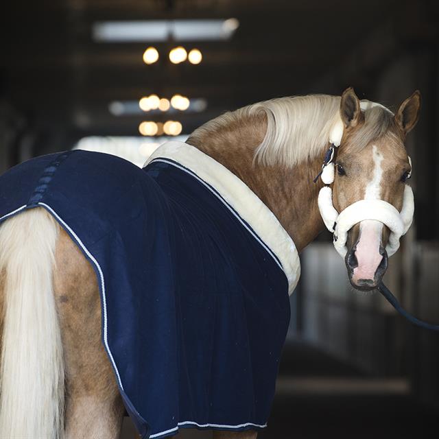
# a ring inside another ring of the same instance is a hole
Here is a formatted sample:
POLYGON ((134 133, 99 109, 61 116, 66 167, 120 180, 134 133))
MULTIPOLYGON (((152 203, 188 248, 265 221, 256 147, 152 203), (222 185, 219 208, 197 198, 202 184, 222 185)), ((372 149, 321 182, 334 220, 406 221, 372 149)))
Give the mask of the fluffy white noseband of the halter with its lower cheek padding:
POLYGON ((339 214, 333 206, 332 189, 325 186, 320 189, 318 207, 324 224, 330 232, 334 233, 334 247, 341 257, 344 258, 348 251, 346 248, 348 231, 365 219, 375 219, 388 226, 390 237, 385 250, 388 256, 392 256, 399 248, 399 239, 412 225, 414 198, 412 188, 406 185, 401 212, 384 200, 359 200, 347 206, 339 214))

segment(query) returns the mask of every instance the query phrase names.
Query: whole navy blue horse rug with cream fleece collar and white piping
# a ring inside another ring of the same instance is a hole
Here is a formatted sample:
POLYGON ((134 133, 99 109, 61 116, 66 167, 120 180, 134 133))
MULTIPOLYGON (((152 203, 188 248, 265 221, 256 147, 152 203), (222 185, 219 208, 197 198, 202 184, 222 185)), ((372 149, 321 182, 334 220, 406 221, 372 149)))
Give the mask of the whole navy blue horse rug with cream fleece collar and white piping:
POLYGON ((73 151, 1 176, 0 222, 36 206, 93 265, 102 341, 142 438, 265 427, 300 267, 244 182, 185 143, 144 169, 73 151))

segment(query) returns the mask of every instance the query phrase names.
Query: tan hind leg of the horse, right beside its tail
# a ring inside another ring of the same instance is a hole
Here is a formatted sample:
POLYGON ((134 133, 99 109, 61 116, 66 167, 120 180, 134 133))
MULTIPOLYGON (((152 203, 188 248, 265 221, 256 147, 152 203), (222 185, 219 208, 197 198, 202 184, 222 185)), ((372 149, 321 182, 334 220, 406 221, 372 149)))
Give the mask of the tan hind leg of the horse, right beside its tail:
POLYGON ((101 342, 97 278, 64 230, 56 244, 54 293, 64 347, 65 439, 116 439, 124 409, 101 342))

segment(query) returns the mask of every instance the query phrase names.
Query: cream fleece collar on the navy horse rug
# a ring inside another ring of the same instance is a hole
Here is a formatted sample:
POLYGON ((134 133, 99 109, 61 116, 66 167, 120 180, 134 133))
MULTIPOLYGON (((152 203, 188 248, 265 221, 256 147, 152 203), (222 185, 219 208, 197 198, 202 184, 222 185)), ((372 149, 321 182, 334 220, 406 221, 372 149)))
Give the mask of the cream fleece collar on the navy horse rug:
POLYGON ((148 158, 143 167, 160 158, 180 163, 222 195, 252 228, 262 244, 265 244, 280 261, 288 279, 288 292, 292 294, 300 277, 300 261, 296 246, 274 213, 258 196, 221 163, 187 143, 164 143, 148 158))

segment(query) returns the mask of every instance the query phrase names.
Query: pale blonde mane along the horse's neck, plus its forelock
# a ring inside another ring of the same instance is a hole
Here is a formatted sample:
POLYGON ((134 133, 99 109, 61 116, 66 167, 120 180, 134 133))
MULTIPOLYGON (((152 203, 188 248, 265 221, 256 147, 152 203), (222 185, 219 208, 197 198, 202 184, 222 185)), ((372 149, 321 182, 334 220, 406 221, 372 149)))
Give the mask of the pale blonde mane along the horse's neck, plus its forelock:
MULTIPOLYGON (((265 116, 267 130, 254 151, 254 161, 293 167, 322 154, 329 145, 331 130, 341 120, 340 100, 340 96, 307 95, 258 102, 204 123, 191 134, 188 143, 200 144, 228 126, 255 126, 265 116)), ((388 108, 366 99, 361 101, 361 109, 366 123, 357 135, 359 148, 383 136, 393 118, 388 108)))

